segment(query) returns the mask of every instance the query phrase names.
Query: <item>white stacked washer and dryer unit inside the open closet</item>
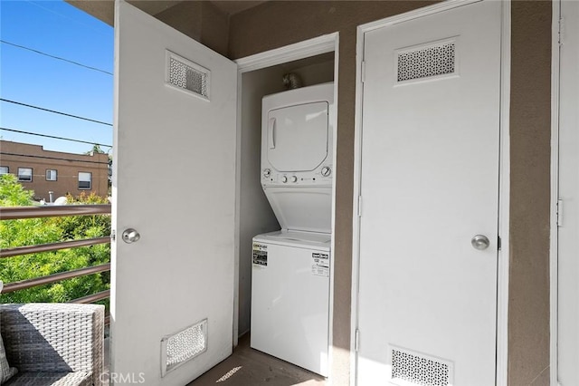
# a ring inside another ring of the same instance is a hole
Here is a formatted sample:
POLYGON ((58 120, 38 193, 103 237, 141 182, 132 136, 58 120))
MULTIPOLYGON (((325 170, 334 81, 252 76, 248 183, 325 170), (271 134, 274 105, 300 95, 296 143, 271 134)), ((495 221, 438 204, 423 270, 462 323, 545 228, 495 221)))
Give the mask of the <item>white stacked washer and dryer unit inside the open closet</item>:
POLYGON ((253 237, 251 346, 327 376, 334 85, 265 96, 261 187, 281 229, 253 237))

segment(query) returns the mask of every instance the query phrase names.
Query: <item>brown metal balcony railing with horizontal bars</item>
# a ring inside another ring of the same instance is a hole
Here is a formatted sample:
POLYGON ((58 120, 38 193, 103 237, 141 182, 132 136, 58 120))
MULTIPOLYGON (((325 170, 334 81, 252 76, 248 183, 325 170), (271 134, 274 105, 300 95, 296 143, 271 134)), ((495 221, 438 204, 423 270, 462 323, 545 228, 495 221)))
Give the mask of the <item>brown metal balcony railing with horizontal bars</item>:
MULTIPOLYGON (((91 216, 91 215, 110 215, 110 205, 65 205, 65 206, 43 206, 43 207, 0 207, 0 220, 14 220, 24 218, 40 217, 69 217, 69 216, 91 216)), ((81 246, 95 246, 99 244, 108 244, 110 236, 86 238, 81 240, 62 241, 59 243, 41 244, 36 246, 18 246, 0 250, 0 258, 10 258, 14 256, 23 256, 42 252, 56 251, 60 249, 76 248, 81 246)), ((75 277, 84 275, 95 275, 102 272, 110 271, 110 263, 87 266, 71 271, 60 272, 52 275, 45 275, 26 279, 13 283, 5 283, 1 294, 9 294, 39 285, 48 285, 61 282, 75 277)), ((90 294, 71 300, 70 303, 94 303, 110 297, 110 290, 102 291, 97 294, 90 294)), ((106 318, 109 323, 109 317, 106 318)))

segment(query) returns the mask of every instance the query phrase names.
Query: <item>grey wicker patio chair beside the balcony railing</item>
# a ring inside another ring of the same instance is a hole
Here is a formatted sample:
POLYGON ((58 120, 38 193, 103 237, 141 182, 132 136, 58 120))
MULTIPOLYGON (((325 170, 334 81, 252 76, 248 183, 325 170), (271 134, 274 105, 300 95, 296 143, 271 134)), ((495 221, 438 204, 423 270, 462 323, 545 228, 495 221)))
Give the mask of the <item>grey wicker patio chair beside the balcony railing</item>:
POLYGON ((6 386, 104 385, 104 306, 0 304, 0 326, 11 367, 6 386))

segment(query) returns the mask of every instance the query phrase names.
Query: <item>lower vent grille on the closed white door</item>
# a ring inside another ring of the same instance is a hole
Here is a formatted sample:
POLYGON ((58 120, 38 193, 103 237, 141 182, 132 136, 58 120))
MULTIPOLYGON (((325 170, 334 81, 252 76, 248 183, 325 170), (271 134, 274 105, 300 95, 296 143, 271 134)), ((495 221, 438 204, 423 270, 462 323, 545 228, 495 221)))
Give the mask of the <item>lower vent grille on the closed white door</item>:
POLYGON ((392 378, 421 386, 451 385, 451 362, 410 352, 392 349, 392 378))

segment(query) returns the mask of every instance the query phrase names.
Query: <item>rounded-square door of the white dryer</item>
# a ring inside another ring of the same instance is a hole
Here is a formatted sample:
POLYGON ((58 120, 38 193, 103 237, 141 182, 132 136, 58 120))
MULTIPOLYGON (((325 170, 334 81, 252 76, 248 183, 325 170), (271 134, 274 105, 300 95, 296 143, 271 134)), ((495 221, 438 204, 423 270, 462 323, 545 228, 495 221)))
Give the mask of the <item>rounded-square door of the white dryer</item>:
POLYGON ((281 172, 318 168, 327 159, 327 111, 327 101, 268 111, 264 150, 271 167, 281 172))

